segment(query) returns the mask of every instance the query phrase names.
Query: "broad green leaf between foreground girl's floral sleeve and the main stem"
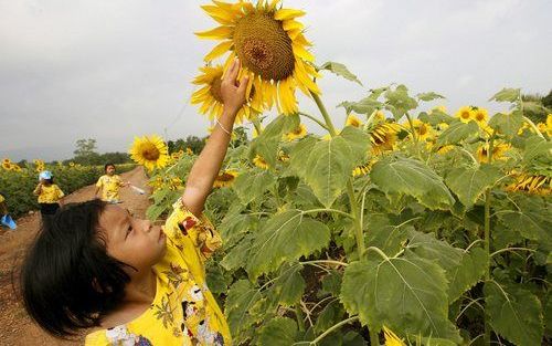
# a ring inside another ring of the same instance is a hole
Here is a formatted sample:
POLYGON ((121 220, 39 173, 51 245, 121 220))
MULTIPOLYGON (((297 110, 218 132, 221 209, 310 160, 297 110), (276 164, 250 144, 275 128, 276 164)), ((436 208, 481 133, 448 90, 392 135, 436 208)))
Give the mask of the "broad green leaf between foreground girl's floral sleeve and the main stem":
POLYGON ((275 271, 285 261, 321 250, 329 241, 329 228, 299 210, 275 214, 255 235, 246 264, 247 273, 256 279, 275 271))

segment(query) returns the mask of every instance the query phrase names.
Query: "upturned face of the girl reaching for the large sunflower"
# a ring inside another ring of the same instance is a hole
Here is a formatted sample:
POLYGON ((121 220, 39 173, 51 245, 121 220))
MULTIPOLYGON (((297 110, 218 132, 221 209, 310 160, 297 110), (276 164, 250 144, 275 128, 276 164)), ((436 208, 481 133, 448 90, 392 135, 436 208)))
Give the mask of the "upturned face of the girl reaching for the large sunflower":
POLYGON ((127 209, 107 206, 99 217, 99 228, 105 234, 107 253, 139 273, 151 270, 164 255, 167 239, 161 227, 132 218, 127 209))

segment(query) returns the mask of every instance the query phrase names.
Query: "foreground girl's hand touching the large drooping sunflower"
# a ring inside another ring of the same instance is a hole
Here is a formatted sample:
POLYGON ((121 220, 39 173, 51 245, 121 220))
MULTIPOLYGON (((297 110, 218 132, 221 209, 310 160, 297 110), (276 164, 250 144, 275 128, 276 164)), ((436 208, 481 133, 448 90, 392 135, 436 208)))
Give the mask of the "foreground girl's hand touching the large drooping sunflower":
POLYGON ((232 66, 226 71, 221 83, 221 96, 224 103, 225 111, 232 115, 236 115, 237 111, 245 103, 245 91, 247 90, 248 77, 244 76, 237 82, 237 73, 240 72, 240 60, 234 60, 232 66))

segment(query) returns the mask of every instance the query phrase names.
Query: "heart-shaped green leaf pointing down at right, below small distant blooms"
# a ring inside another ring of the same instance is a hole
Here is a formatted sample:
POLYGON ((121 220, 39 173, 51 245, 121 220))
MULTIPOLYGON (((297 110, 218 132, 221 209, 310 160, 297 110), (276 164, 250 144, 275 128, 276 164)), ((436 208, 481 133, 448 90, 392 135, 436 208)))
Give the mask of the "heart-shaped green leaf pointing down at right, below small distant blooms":
POLYGON ((458 167, 450 170, 445 178, 447 186, 458 196, 467 209, 471 208, 479 196, 501 177, 500 170, 493 166, 458 167))

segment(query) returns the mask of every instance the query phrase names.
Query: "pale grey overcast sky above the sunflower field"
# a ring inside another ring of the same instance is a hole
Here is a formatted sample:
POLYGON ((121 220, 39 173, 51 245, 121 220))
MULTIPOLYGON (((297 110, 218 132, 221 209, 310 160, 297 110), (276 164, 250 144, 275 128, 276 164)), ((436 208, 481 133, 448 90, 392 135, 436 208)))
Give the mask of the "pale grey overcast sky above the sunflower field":
MULTIPOLYGON (((190 81, 214 41, 215 22, 191 0, 0 0, 0 157, 62 159, 78 138, 126 151, 135 135, 206 134, 189 104, 190 81)), ((550 0, 287 0, 317 63, 346 64, 363 87, 320 81, 336 122, 342 101, 404 83, 498 111, 502 86, 552 88, 550 0)), ((315 112, 311 101, 300 108, 315 112)), ((311 125, 314 127, 314 125, 311 125)))

